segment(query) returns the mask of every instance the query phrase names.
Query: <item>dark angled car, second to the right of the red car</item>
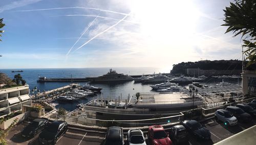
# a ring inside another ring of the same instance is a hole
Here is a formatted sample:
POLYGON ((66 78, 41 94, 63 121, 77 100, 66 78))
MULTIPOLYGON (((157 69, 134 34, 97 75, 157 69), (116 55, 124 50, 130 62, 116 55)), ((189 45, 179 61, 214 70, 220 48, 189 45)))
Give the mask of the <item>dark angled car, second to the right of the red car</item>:
POLYGON ((187 131, 194 134, 198 139, 210 139, 210 131, 195 120, 185 120, 182 122, 187 131))

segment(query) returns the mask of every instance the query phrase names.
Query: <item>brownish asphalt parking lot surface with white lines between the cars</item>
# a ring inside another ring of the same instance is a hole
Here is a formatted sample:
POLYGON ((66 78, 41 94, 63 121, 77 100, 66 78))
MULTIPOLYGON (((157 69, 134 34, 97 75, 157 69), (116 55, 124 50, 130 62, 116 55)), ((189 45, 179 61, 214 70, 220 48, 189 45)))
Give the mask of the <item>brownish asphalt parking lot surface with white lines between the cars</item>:
MULTIPOLYGON (((28 125, 28 123, 23 122, 14 127, 7 136, 8 144, 40 144, 38 142, 38 134, 34 138, 23 138, 20 135, 20 131, 28 125)), ((241 132, 253 125, 256 125, 256 119, 253 119, 250 123, 238 123, 236 126, 226 126, 222 122, 216 122, 215 119, 208 120, 203 122, 204 125, 211 133, 211 139, 205 141, 199 141, 195 139, 193 135, 189 134, 189 142, 187 144, 214 144, 217 143, 233 134, 241 132)), ((146 138, 146 143, 150 144, 150 141, 147 139, 147 133, 144 132, 144 136, 146 138)), ((72 144, 72 145, 80 145, 80 144, 92 144, 98 145, 103 144, 105 133, 104 132, 96 132, 90 130, 82 130, 76 128, 68 128, 67 132, 63 134, 60 138, 58 138, 56 144, 72 144)), ((124 140, 126 140, 126 133, 124 132, 124 140)))

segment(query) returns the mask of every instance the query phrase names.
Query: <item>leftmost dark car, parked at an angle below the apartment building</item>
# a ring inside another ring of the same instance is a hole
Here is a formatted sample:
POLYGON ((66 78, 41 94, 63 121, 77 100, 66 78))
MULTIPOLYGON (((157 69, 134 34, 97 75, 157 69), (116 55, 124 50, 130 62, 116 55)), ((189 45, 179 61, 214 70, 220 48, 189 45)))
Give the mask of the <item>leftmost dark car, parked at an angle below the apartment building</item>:
POLYGON ((38 132, 44 130, 47 124, 48 120, 46 119, 35 119, 23 129, 21 134, 23 137, 33 137, 38 132))

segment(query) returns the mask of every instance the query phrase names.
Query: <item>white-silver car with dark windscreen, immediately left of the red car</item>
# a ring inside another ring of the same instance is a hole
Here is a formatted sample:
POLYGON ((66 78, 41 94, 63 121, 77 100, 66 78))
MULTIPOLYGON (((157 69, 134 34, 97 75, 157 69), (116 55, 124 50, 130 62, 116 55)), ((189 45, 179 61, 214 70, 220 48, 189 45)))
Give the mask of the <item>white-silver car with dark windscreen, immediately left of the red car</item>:
POLYGON ((140 129, 128 130, 127 142, 129 145, 146 145, 143 132, 140 129))

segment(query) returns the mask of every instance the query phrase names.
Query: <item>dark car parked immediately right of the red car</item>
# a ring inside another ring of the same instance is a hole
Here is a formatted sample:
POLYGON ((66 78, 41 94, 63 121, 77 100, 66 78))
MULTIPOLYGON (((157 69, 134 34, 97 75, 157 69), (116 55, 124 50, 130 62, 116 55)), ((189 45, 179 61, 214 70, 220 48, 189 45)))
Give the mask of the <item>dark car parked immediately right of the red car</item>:
POLYGON ((188 132, 183 125, 176 125, 169 130, 169 137, 173 142, 183 143, 188 141, 188 132))

